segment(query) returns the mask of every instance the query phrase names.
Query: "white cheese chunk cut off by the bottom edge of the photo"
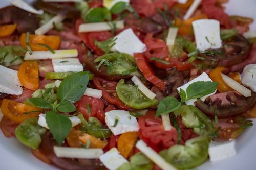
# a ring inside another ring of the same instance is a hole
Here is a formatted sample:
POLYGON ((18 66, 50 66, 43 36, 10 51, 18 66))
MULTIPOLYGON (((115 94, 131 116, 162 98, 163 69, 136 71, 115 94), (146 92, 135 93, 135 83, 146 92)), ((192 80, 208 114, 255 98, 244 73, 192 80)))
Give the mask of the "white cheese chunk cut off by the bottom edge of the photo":
POLYGON ((124 163, 129 163, 122 155, 119 154, 117 148, 112 148, 108 152, 104 153, 99 157, 99 160, 110 170, 116 170, 124 163))

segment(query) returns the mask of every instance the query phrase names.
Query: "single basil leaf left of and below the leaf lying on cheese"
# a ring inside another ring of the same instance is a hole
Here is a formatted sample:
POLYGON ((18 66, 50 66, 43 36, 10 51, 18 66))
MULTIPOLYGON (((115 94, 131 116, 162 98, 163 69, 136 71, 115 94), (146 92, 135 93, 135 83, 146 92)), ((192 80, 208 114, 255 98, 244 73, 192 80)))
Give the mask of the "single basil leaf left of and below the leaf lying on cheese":
POLYGON ((179 109, 180 106, 181 102, 179 102, 176 98, 170 96, 166 97, 162 99, 159 103, 156 111, 156 116, 173 112, 179 109))

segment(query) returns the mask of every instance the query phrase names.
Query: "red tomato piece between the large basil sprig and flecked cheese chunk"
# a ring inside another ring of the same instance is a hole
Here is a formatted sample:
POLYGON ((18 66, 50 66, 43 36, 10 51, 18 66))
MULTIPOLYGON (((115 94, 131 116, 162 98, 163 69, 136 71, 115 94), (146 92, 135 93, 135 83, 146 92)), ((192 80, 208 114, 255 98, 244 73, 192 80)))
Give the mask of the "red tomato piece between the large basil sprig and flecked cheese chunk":
POLYGON ((101 123, 105 123, 105 113, 104 113, 104 102, 100 99, 93 98, 87 95, 82 96, 82 98, 76 103, 77 109, 83 114, 84 118, 88 120, 89 116, 97 117, 101 123), (90 105, 91 114, 87 111, 87 105, 90 105))

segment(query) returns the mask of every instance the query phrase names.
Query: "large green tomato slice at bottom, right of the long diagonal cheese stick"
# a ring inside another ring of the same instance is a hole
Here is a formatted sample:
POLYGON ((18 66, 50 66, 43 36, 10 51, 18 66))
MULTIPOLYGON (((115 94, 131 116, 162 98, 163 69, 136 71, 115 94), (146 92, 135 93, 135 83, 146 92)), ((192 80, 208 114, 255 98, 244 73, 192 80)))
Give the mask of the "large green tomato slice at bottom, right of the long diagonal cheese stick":
POLYGON ((178 169, 191 169, 204 163, 208 158, 209 142, 206 136, 187 140, 185 145, 176 144, 159 154, 178 169))

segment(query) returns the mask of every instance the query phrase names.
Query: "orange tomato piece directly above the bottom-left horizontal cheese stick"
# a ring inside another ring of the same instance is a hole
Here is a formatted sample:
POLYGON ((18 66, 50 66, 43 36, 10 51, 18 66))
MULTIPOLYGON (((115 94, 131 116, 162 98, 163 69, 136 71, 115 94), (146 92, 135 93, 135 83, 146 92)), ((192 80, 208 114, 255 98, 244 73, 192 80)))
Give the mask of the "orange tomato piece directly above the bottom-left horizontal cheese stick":
POLYGON ((87 142, 90 140, 90 148, 105 148, 106 145, 108 145, 108 142, 106 141, 102 141, 99 138, 96 138, 94 136, 91 136, 87 133, 83 133, 79 136, 79 140, 83 143, 83 144, 87 144, 87 142))

